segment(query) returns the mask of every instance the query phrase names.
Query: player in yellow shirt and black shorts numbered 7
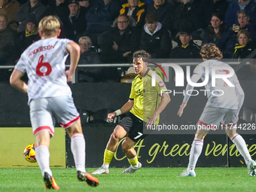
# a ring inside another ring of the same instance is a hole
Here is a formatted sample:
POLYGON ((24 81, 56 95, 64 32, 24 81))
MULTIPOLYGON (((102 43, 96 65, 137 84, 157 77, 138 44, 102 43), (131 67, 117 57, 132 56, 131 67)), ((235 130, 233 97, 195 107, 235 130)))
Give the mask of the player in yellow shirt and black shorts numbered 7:
POLYGON ((137 76, 132 83, 130 98, 122 108, 108 114, 111 121, 120 114, 125 113, 126 117, 121 120, 111 134, 105 148, 103 164, 95 172, 92 172, 94 175, 108 174, 108 167, 117 150, 117 144, 125 136, 122 150, 131 166, 123 173, 133 173, 142 167, 133 145, 139 139, 144 139, 147 136, 143 134, 143 121, 146 126, 158 123, 159 114, 171 100, 168 93, 161 94, 161 90, 166 90, 166 86, 158 75, 156 75, 156 86, 151 87, 151 70, 148 69, 148 62, 146 62, 150 58, 151 55, 145 50, 133 53, 133 67, 137 76))

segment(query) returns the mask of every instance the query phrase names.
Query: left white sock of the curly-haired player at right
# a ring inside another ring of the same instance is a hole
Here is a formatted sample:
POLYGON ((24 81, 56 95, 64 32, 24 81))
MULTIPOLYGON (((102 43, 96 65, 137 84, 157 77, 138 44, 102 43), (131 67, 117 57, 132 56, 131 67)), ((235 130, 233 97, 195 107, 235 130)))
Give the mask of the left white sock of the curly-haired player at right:
POLYGON ((187 170, 195 169, 197 160, 200 157, 202 150, 203 150, 203 139, 195 138, 191 146, 187 170))

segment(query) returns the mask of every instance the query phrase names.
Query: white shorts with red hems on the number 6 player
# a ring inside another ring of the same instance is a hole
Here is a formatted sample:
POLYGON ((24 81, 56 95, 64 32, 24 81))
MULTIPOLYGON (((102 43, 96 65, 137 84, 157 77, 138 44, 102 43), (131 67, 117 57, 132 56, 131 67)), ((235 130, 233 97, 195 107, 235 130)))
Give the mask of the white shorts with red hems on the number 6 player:
POLYGON ((63 128, 68 128, 79 120, 79 113, 71 96, 32 99, 29 108, 35 136, 43 130, 49 131, 53 136, 56 121, 63 128))

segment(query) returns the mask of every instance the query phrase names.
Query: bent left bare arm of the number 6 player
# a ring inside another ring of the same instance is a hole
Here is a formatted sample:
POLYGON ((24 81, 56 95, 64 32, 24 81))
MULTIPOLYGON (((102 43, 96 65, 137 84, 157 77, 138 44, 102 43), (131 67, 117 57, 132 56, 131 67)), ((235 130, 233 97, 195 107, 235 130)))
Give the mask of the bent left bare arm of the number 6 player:
POLYGON ((28 93, 28 85, 20 79, 23 75, 23 72, 14 69, 14 72, 12 72, 10 77, 10 84, 18 90, 21 90, 23 93, 28 93))

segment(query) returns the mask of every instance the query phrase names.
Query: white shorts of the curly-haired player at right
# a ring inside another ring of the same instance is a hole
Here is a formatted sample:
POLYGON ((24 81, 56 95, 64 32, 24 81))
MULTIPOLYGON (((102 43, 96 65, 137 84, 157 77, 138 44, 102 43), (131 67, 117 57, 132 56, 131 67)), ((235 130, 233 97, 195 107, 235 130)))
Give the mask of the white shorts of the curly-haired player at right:
POLYGON ((228 108, 215 108, 207 106, 204 108, 203 113, 201 114, 198 124, 203 127, 206 127, 210 130, 216 130, 220 125, 222 126, 235 126, 237 118, 237 109, 228 109, 228 108))

